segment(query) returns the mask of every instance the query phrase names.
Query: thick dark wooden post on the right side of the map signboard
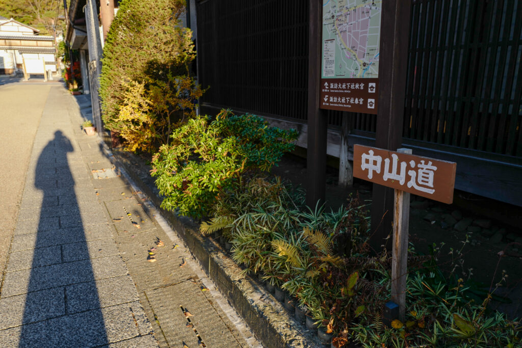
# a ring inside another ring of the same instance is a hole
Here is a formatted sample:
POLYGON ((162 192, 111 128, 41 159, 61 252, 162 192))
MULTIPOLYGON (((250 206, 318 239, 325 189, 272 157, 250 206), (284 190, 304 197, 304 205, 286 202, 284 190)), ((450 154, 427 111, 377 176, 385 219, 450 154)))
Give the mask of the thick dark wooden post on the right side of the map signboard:
MULTIPOLYGON (((394 150, 402 143, 402 119, 406 90, 410 1, 387 0, 382 3, 381 45, 379 47, 379 103, 375 147, 394 150)), ((390 243, 385 238, 392 231, 394 192, 373 184, 372 238, 375 251, 390 243)))

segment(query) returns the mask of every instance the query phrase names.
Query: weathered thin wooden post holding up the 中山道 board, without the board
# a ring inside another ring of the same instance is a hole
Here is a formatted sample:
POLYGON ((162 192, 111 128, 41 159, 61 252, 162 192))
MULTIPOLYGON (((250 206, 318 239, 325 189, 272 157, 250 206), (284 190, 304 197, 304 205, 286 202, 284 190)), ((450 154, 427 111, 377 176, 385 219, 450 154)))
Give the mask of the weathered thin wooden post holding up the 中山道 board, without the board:
MULTIPOLYGON (((397 149, 397 152, 411 154, 411 149, 397 149)), ((394 191, 392 301, 399 305, 399 320, 404 322, 406 310, 406 275, 408 274, 410 194, 399 189, 394 189, 394 191)))

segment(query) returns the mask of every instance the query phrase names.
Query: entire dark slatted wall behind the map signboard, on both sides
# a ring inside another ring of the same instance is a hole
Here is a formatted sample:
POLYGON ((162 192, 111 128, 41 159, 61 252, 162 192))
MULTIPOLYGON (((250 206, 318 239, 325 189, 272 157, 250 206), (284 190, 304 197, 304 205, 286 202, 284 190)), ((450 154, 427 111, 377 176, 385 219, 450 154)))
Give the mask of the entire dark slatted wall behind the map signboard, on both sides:
MULTIPOLYGON (((522 3, 411 6, 403 136, 522 157, 522 3)), ((306 123, 308 2, 207 0, 197 16, 204 103, 306 123)), ((375 115, 351 116, 351 129, 375 132, 375 115)))

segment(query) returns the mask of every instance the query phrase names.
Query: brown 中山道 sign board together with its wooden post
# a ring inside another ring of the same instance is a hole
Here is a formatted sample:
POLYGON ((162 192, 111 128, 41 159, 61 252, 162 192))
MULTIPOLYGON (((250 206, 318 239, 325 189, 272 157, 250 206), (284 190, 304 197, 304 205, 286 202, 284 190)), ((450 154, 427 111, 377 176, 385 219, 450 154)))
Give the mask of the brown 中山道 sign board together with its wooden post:
POLYGON ((406 309, 410 193, 452 203, 456 167, 455 162, 412 155, 410 149, 353 147, 353 176, 395 189, 392 300, 399 306, 400 320, 406 309))

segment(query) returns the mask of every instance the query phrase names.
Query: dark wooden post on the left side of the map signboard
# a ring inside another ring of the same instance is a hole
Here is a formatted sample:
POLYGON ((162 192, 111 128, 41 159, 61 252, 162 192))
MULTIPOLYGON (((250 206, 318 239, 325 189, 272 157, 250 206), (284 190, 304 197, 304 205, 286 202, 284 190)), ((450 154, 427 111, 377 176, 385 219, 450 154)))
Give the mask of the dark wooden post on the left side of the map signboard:
POLYGON ((323 2, 320 0, 309 0, 309 4, 308 146, 306 154, 308 184, 306 205, 313 209, 317 201, 325 201, 326 135, 328 125, 325 113, 319 110, 323 2))

